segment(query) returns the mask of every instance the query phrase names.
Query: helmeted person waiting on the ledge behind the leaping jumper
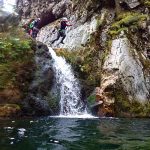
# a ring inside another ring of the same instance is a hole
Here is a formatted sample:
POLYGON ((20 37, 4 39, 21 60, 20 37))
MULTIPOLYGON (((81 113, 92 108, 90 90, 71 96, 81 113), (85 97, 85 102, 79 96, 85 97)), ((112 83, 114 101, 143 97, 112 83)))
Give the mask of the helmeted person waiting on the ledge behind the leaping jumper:
POLYGON ((37 18, 29 24, 29 29, 30 29, 29 34, 33 38, 37 37, 37 33, 39 32, 39 23, 40 23, 40 21, 41 21, 41 19, 37 18))

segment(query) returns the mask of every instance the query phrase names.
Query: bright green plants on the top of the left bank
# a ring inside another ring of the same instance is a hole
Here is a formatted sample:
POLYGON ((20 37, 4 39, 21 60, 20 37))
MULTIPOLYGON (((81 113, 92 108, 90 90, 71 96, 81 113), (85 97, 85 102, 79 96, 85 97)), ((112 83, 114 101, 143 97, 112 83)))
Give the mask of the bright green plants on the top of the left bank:
POLYGON ((31 39, 25 37, 21 31, 0 33, 0 63, 27 59, 33 53, 31 47, 31 39))

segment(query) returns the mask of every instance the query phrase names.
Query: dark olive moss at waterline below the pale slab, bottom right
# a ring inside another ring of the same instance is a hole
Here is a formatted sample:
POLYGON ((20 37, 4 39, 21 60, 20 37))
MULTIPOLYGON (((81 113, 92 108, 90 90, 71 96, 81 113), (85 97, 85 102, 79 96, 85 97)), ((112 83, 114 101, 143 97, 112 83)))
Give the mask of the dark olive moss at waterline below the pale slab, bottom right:
POLYGON ((129 100, 127 93, 116 89, 115 97, 115 115, 117 117, 149 117, 150 104, 141 104, 137 100, 129 100))

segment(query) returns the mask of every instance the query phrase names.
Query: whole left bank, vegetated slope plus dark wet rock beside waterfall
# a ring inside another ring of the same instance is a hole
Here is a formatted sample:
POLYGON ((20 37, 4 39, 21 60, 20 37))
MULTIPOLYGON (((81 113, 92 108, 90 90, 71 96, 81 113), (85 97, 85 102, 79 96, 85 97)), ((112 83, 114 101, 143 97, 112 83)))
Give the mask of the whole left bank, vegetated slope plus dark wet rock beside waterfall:
POLYGON ((0 117, 54 114, 48 48, 16 28, 1 32, 0 49, 0 117))

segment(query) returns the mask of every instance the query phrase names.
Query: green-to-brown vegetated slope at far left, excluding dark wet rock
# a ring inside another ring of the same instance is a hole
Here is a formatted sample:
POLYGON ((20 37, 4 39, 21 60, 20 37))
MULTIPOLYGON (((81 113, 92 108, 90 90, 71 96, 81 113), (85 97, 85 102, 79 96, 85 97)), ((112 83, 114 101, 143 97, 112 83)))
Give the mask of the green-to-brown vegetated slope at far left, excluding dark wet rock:
POLYGON ((1 103, 7 104, 2 110, 10 104, 12 111, 20 109, 35 68, 34 45, 19 29, 0 33, 0 97, 1 103))

